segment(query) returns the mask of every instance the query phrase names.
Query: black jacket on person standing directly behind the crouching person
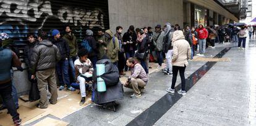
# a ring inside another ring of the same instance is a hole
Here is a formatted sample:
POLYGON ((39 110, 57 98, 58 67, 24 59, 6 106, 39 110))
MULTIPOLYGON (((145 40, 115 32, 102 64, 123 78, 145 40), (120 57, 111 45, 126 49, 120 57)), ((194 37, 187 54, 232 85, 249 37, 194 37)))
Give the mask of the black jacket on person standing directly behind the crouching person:
POLYGON ((137 39, 137 35, 136 35, 135 31, 132 34, 130 34, 129 31, 124 33, 124 36, 122 36, 122 41, 123 42, 132 41, 132 44, 124 45, 125 52, 132 52, 132 51, 136 50, 136 39, 137 39), (130 50, 130 49, 132 49, 132 50, 130 50))

